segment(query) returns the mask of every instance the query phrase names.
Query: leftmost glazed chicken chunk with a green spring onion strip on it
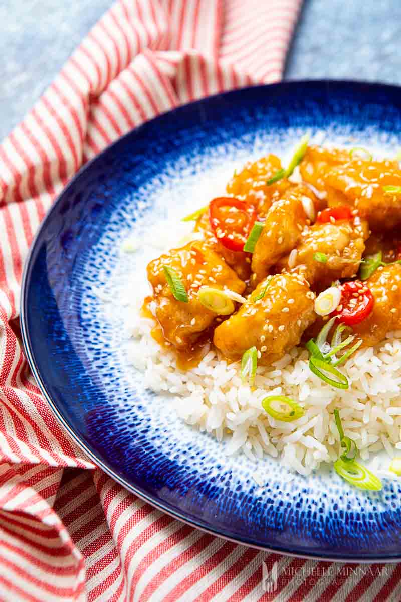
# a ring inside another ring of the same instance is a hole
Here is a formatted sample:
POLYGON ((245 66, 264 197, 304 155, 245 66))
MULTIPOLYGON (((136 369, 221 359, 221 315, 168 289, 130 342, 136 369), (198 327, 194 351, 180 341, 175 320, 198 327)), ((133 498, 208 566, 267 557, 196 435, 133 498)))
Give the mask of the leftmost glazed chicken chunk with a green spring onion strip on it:
POLYGON ((236 273, 202 242, 172 249, 154 259, 148 264, 147 277, 153 287, 156 318, 164 337, 180 350, 191 346, 216 318, 215 312, 206 309, 198 300, 200 287, 228 288, 236 293, 245 289, 245 283, 236 273), (164 266, 173 268, 181 279, 188 303, 174 298, 166 281, 164 266))

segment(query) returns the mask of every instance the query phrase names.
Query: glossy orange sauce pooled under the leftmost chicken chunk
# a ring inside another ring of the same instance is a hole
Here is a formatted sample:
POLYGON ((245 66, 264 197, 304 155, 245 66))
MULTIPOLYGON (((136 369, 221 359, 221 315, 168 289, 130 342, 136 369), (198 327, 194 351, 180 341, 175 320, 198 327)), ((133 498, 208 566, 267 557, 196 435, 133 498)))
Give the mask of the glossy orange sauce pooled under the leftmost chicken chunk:
POLYGON ((196 343, 191 345, 191 347, 185 351, 179 351, 165 339, 161 325, 156 322, 155 316, 149 309, 149 303, 151 301, 152 297, 145 297, 141 308, 141 316, 144 318, 152 318, 152 320, 155 321, 155 326, 153 326, 150 331, 152 337, 161 347, 174 353, 177 359, 177 368, 179 368, 179 370, 186 371, 197 367, 206 353, 209 353, 213 346, 213 327, 202 333, 200 338, 198 338, 196 343))

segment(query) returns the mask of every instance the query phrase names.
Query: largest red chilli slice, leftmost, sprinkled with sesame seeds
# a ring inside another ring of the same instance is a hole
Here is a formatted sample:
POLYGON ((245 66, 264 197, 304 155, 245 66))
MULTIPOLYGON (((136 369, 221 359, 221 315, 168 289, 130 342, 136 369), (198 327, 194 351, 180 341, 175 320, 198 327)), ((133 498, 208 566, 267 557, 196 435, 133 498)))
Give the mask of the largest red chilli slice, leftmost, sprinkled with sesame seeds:
POLYGON ((209 203, 209 222, 213 234, 231 251, 242 251, 256 221, 256 209, 242 200, 220 196, 209 203))

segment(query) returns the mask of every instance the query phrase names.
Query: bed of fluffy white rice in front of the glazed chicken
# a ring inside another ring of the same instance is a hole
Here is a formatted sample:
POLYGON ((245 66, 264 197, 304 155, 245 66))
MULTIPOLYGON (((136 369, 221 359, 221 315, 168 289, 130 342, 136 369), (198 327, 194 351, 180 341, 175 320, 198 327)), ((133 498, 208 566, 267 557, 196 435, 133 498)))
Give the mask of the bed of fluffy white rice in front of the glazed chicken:
POLYGON ((133 312, 129 328, 136 341, 130 347, 130 361, 144 373, 147 388, 170 394, 183 421, 218 441, 224 438, 227 455, 244 453, 257 462, 268 454, 307 475, 320 462, 338 457, 335 408, 340 410, 345 435, 355 441, 364 461, 380 450, 393 458, 401 449, 401 331, 388 333, 381 344, 358 351, 346 362, 342 368, 349 382, 346 391, 314 376, 301 347, 271 367, 258 367, 251 390, 241 382, 239 362, 228 365, 215 351, 196 368, 178 370, 174 354, 152 338, 152 326, 153 320, 133 312), (268 395, 292 397, 305 415, 293 423, 274 420, 261 405, 268 395))

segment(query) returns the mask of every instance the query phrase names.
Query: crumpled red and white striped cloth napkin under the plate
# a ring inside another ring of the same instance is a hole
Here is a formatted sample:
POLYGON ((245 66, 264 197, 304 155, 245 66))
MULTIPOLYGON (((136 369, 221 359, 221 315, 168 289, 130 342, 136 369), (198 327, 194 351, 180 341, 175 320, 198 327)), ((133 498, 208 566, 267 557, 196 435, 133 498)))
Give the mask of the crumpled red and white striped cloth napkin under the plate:
POLYGON ((119 0, 0 146, 1 600, 401 599, 395 566, 355 580, 224 542, 127 492, 58 426, 15 334, 29 245, 76 170, 183 102, 280 79, 300 5, 119 0))

